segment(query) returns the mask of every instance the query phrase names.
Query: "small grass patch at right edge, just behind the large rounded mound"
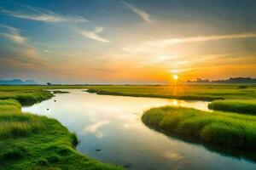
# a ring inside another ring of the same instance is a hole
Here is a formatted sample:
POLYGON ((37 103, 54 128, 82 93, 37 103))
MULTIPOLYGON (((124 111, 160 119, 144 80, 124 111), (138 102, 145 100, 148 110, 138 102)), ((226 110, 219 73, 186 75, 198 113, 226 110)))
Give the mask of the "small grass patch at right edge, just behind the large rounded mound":
POLYGON ((256 115, 256 100, 216 100, 208 107, 215 111, 231 111, 256 115))

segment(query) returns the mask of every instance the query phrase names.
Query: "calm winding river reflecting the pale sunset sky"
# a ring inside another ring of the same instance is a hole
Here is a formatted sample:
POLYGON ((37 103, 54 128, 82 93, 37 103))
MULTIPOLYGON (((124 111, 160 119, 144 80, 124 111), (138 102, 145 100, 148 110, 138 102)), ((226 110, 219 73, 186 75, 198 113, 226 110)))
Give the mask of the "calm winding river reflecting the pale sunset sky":
POLYGON ((22 111, 57 119, 78 135, 77 150, 96 160, 137 170, 256 169, 253 161, 167 137, 141 121, 143 111, 152 107, 177 105, 208 111, 207 102, 65 91, 70 94, 56 94, 22 111))

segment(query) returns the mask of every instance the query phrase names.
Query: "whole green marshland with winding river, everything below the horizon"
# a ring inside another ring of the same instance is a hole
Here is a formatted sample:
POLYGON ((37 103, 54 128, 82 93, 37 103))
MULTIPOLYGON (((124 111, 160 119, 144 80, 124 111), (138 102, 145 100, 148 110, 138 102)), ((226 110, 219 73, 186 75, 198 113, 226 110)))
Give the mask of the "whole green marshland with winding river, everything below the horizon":
POLYGON ((1 167, 253 169, 256 87, 237 87, 1 86, 1 167))

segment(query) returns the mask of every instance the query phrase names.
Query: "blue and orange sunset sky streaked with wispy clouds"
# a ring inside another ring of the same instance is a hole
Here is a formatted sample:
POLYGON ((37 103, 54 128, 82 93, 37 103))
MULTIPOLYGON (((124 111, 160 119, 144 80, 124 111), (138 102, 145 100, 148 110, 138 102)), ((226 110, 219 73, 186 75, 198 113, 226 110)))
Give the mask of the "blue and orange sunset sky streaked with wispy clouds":
POLYGON ((256 77, 253 0, 1 0, 0 79, 256 77))

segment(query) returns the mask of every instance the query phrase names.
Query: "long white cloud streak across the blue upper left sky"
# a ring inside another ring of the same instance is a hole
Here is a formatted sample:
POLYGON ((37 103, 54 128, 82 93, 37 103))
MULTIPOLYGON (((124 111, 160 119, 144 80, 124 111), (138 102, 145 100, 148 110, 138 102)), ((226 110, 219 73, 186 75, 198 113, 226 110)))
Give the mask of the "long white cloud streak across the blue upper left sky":
POLYGON ((26 8, 26 13, 11 11, 8 9, 0 8, 0 14, 5 14, 8 16, 12 16, 15 18, 26 19, 26 20, 38 20, 44 22, 64 22, 64 21, 72 21, 72 22, 88 22, 90 20, 84 19, 84 17, 80 15, 70 14, 67 16, 55 14, 54 12, 43 9, 43 8, 35 8, 26 5, 20 6, 26 8), (27 10, 28 9, 28 10, 27 10))

